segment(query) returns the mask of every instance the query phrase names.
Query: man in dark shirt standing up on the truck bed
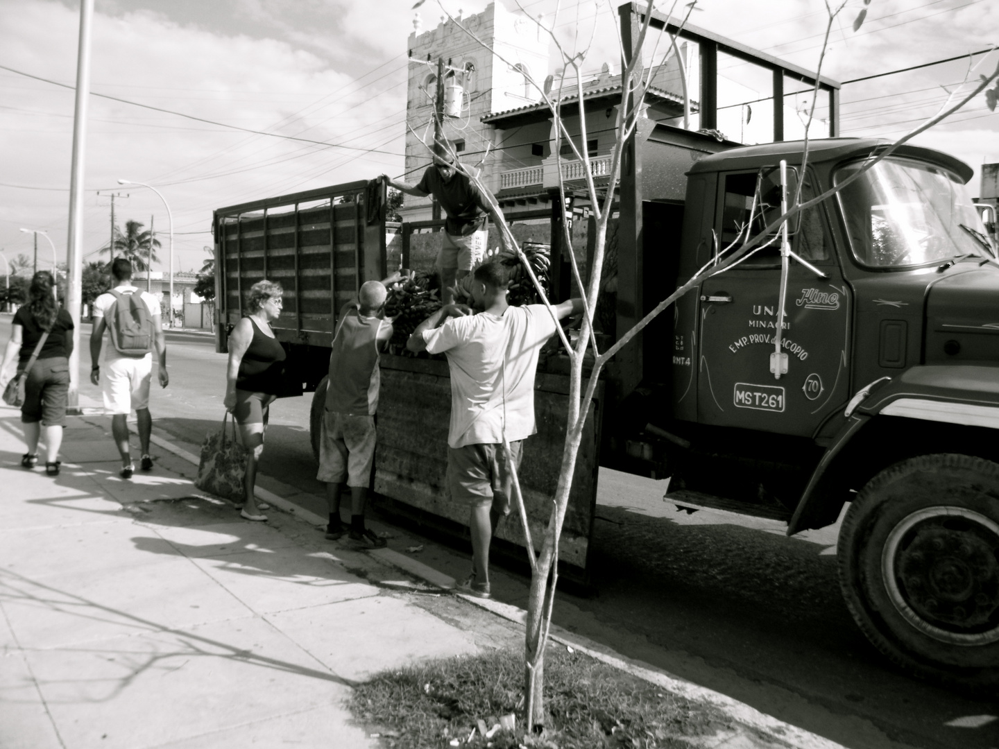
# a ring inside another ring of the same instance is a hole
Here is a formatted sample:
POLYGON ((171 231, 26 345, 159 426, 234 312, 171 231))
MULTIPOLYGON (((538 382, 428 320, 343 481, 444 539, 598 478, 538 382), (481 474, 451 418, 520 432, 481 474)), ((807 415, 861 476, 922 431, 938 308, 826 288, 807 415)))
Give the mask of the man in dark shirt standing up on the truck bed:
MULTIPOLYGON (((495 226, 500 227, 500 215, 496 199, 485 188, 482 190, 463 174, 455 164, 455 158, 441 150, 434 154, 434 164, 424 172, 419 185, 393 180, 388 175, 380 178, 396 190, 416 198, 426 198, 433 195, 447 214, 445 231, 442 234, 441 252, 438 254, 437 267, 441 272, 442 301, 450 305, 454 298, 452 287, 455 282, 468 276, 476 264, 483 259, 486 243, 489 241, 489 230, 486 228, 486 217, 493 219, 495 226)), ((506 239, 500 234, 500 245, 507 249, 506 239)))

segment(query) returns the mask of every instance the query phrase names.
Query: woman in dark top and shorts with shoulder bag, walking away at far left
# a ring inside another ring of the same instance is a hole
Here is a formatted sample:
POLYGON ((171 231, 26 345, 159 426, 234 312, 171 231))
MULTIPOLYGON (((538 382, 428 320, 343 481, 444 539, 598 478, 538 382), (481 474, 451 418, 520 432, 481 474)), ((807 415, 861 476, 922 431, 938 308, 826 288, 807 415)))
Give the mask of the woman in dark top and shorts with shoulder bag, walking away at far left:
POLYGON ((21 457, 21 465, 33 468, 38 464, 38 441, 44 430, 45 472, 50 476, 59 475, 69 355, 73 353, 73 319, 56 303, 55 292, 55 279, 48 271, 32 277, 28 303, 14 315, 10 341, 0 364, 3 373, 18 356, 18 374, 28 370, 21 406, 28 451, 21 457))

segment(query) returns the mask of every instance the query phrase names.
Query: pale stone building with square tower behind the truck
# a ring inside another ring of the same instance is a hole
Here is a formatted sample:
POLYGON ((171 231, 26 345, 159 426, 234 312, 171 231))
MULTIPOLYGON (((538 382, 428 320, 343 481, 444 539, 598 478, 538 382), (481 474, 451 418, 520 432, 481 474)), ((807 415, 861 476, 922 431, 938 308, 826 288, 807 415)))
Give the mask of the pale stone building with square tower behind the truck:
MULTIPOLYGON (((543 23, 543 19, 539 19, 543 23)), ((418 16, 409 38, 409 88, 407 96, 406 179, 417 183, 431 164, 428 145, 433 142, 433 114, 437 88, 437 61, 447 64, 445 73, 444 136, 458 152, 462 163, 478 166, 504 212, 515 219, 520 212, 536 210, 548 203, 558 185, 559 154, 554 153, 553 117, 542 101, 539 83, 558 98, 559 109, 569 136, 581 150, 581 133, 576 81, 564 82, 548 75, 549 37, 521 12, 511 12, 501 0, 479 14, 442 19, 436 28, 422 31, 418 16), (464 27, 464 28, 463 28, 464 27), (475 34, 473 38, 469 32, 475 34), (550 80, 546 80, 550 79, 550 80)), ((657 61, 664 51, 660 48, 657 61)), ((773 141, 773 77, 770 71, 759 76, 758 69, 736 60, 726 63, 716 80, 715 128, 735 143, 773 141), (751 73, 751 74, 750 74, 751 73), (767 101, 767 97, 771 97, 767 101)), ((784 84, 783 131, 786 140, 804 133, 801 94, 810 89, 800 83, 784 84), (793 88, 789 88, 793 86, 793 88)), ((675 127, 700 128, 700 64, 698 45, 681 42, 677 53, 660 67, 645 97, 643 119, 675 127), (684 76, 686 86, 684 87, 684 76), (688 92, 684 105, 684 88, 688 92)), ((583 79, 582 111, 590 170, 596 180, 606 182, 610 152, 616 140, 616 114, 621 100, 619 75, 611 75, 604 64, 598 74, 583 79)), ((812 123, 813 137, 827 137, 829 107, 819 107, 812 123)), ((561 176, 570 190, 584 186, 584 165, 572 148, 560 144, 561 176)), ((405 198, 400 214, 406 221, 431 218, 429 198, 405 198)))

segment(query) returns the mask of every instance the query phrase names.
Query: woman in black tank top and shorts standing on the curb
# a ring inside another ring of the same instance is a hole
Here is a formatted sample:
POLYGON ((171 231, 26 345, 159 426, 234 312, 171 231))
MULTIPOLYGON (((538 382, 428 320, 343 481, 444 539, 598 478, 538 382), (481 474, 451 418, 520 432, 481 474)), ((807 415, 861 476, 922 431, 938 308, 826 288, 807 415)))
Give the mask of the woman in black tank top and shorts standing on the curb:
POLYGON ((229 336, 229 369, 226 396, 222 401, 240 427, 243 444, 250 450, 244 479, 244 504, 240 514, 247 520, 266 520, 254 496, 257 462, 264 451, 268 408, 278 396, 284 372, 285 350, 271 330, 271 321, 281 317, 283 290, 280 284, 260 281, 250 288, 243 318, 229 336))

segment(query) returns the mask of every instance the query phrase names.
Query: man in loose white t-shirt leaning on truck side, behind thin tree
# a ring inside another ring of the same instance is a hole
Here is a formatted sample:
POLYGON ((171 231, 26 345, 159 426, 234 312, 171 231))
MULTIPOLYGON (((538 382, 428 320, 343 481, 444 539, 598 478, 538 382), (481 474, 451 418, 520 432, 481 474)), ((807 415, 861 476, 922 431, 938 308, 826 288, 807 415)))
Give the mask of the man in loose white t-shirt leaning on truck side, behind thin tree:
MULTIPOLYGON (((543 305, 510 307, 507 272, 500 263, 476 269, 472 285, 478 315, 449 305, 421 323, 407 342, 413 352, 444 353, 451 370, 448 485, 452 497, 471 505, 473 573, 458 589, 490 597, 490 543, 510 511, 512 478, 503 437, 514 465, 534 424, 534 375, 541 347, 555 333, 543 305)), ((582 312, 582 300, 554 306, 562 320, 582 312)))

